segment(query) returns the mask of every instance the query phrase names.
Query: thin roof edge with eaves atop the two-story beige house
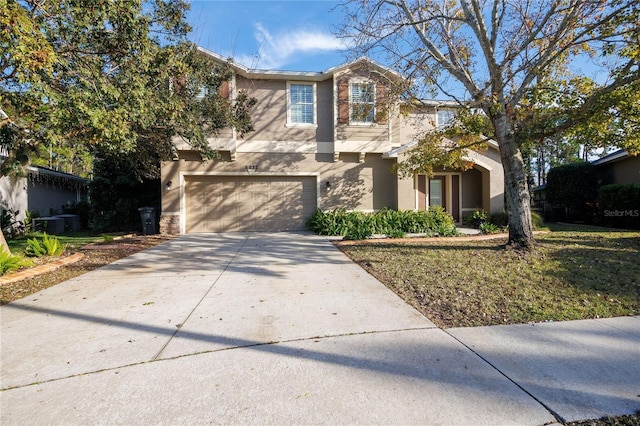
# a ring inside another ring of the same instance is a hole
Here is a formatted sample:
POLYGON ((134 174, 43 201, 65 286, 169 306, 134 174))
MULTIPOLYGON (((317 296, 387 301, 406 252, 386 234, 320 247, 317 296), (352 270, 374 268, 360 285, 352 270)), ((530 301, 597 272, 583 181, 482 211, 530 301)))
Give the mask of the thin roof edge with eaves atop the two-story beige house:
POLYGON ((298 79, 298 80, 310 80, 310 81, 322 81, 327 78, 333 76, 334 74, 339 74, 340 72, 353 68, 355 65, 366 64, 369 67, 372 67, 376 71, 390 76, 392 78, 402 79, 404 78, 402 75, 397 73, 396 71, 387 68, 379 63, 373 61, 367 57, 360 57, 352 62, 348 62, 346 64, 338 65, 336 67, 329 68, 325 71, 276 71, 276 70, 261 70, 255 68, 249 68, 245 65, 234 62, 231 58, 225 58, 215 52, 212 52, 204 47, 198 47, 198 50, 213 59, 229 63, 239 74, 253 77, 253 78, 269 78, 269 79, 298 79))

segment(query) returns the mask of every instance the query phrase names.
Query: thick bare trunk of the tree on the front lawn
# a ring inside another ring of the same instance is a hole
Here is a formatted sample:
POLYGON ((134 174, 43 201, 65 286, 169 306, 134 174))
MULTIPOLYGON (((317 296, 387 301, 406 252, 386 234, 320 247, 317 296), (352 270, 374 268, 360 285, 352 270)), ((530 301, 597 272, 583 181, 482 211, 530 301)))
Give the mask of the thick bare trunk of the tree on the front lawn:
POLYGON ((504 168, 504 191, 509 213, 509 245, 529 248, 533 243, 531 202, 522 153, 506 114, 493 117, 500 159, 504 168))

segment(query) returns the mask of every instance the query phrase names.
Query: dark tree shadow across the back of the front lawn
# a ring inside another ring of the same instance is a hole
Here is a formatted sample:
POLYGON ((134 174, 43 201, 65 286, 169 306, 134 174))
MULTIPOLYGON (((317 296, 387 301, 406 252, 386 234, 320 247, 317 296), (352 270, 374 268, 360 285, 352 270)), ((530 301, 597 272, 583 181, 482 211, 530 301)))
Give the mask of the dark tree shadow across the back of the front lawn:
MULTIPOLYGON (((615 231, 607 230, 607 232, 615 231)), ((505 262, 496 265, 496 268, 520 268, 521 265, 524 265, 534 281, 538 276, 540 283, 544 281, 554 287, 564 286, 575 290, 567 292, 558 288, 561 299, 580 296, 585 299, 583 303, 587 305, 596 301, 601 304, 621 303, 618 299, 622 299, 625 306, 631 306, 631 309, 636 313, 640 312, 640 299, 638 298, 640 296, 640 282, 638 280, 640 277, 640 262, 638 262, 640 234, 629 235, 617 232, 613 236, 606 237, 600 233, 590 235, 580 231, 576 231, 575 235, 567 232, 549 233, 537 239, 531 253, 510 252, 505 249, 503 242, 504 240, 452 241, 451 243, 443 241, 389 241, 372 244, 358 243, 344 247, 344 251, 348 253, 354 249, 357 250, 358 246, 366 246, 376 251, 397 251, 397 256, 402 257, 411 255, 413 250, 423 250, 425 253, 433 250, 434 256, 442 256, 441 264, 462 262, 462 268, 469 267, 468 260, 473 262, 475 259, 485 265, 487 262, 497 262, 496 259, 502 257, 500 252, 504 252, 505 262), (450 262, 447 262, 446 259, 447 252, 451 252, 452 255, 450 262), (466 260, 460 255, 453 257, 454 252, 468 253, 464 255, 467 256, 464 258, 466 260), (611 301, 611 299, 616 300, 611 301)), ((367 263, 380 261, 379 259, 374 260, 373 257, 375 256, 359 259, 358 263, 367 265, 367 263)), ((385 261, 388 261, 391 254, 386 253, 385 258, 385 261)), ((407 263, 407 267, 411 266, 407 263)), ((464 272, 459 271, 459 273, 462 274, 461 279, 463 279, 464 272)), ((524 275, 525 271, 521 271, 519 274, 524 275)), ((535 282, 532 284, 536 285, 535 282)), ((555 290, 550 288, 549 291, 555 290)))

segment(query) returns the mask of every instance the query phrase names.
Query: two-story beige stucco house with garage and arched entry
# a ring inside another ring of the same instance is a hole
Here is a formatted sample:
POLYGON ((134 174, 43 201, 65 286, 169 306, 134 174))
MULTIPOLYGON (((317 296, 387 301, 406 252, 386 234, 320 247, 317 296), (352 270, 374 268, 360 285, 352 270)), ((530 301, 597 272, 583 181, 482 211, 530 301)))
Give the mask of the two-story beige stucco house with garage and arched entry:
POLYGON ((420 116, 401 114, 385 102, 389 81, 402 78, 395 72, 366 58, 323 72, 232 68, 229 97, 247 90, 258 100, 251 114, 255 131, 240 138, 228 129, 211 138, 221 159, 206 162, 174 138, 177 155, 162 163, 161 232, 302 230, 318 208, 442 205, 457 221, 475 209, 503 211, 495 144, 469 151, 474 166, 466 171, 413 178, 392 172, 417 135, 446 112, 433 102, 420 116))

